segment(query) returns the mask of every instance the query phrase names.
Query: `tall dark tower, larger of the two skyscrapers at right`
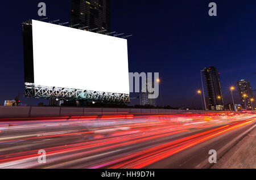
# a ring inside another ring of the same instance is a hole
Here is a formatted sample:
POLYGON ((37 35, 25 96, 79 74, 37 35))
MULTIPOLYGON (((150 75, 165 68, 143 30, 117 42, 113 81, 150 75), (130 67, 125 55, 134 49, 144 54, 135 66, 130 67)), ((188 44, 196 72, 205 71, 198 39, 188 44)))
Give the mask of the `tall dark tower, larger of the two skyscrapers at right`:
POLYGON ((207 87, 209 109, 223 110, 224 101, 221 90, 220 75, 217 68, 204 68, 204 79, 207 87))

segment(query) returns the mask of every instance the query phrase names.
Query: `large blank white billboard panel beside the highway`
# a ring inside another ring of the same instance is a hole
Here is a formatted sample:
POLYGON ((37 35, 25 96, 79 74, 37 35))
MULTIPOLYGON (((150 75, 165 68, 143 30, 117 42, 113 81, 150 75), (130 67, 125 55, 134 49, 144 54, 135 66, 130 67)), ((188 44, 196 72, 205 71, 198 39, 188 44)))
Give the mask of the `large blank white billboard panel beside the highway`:
POLYGON ((34 83, 129 94, 127 40, 32 20, 34 83))

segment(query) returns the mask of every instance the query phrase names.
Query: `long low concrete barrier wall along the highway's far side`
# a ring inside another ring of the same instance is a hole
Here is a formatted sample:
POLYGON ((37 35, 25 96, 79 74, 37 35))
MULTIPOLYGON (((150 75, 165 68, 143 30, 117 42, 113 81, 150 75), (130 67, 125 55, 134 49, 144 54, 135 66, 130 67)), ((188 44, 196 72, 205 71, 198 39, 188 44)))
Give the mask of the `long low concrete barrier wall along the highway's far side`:
POLYGON ((102 114, 164 114, 164 113, 221 113, 220 111, 128 108, 67 108, 34 106, 0 106, 0 118, 65 117, 102 114))

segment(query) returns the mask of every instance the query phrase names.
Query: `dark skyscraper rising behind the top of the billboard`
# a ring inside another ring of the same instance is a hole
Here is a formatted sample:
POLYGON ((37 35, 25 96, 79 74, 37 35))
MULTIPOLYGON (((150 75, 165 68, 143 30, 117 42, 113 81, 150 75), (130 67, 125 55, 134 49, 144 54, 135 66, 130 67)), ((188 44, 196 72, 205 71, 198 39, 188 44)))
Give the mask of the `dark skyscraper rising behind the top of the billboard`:
POLYGON ((110 31, 110 0, 72 0, 71 25, 110 31))

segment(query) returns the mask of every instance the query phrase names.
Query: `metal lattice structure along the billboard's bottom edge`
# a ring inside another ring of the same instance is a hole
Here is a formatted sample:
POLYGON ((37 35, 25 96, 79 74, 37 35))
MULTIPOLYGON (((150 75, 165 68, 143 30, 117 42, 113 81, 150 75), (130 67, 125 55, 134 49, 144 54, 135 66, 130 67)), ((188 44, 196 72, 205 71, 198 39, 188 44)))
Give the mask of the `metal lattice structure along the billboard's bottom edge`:
POLYGON ((107 93, 98 91, 87 91, 71 88, 44 87, 34 83, 25 83, 25 97, 58 99, 65 101, 97 101, 114 104, 128 104, 129 95, 121 93, 107 93))

